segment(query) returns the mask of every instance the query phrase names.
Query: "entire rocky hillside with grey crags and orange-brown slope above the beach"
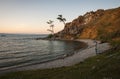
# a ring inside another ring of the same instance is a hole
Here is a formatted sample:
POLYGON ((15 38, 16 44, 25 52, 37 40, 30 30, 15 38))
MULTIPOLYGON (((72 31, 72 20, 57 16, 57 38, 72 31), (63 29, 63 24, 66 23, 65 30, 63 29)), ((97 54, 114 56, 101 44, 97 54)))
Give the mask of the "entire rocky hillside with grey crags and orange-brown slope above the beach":
POLYGON ((55 36, 62 39, 109 39, 120 37, 120 7, 87 12, 72 22, 66 23, 64 29, 55 36))

